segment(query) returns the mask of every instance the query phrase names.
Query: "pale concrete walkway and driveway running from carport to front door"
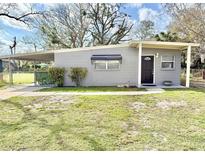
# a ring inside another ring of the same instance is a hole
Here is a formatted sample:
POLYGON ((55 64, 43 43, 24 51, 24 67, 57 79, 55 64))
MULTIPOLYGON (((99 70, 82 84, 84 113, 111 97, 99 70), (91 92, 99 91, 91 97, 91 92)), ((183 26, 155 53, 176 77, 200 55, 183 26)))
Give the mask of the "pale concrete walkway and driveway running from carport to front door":
POLYGON ((23 85, 9 87, 0 90, 0 100, 5 100, 14 96, 50 96, 50 95, 145 95, 145 94, 158 94, 164 92, 161 88, 147 88, 147 91, 115 91, 115 92, 35 92, 36 90, 45 87, 23 85))

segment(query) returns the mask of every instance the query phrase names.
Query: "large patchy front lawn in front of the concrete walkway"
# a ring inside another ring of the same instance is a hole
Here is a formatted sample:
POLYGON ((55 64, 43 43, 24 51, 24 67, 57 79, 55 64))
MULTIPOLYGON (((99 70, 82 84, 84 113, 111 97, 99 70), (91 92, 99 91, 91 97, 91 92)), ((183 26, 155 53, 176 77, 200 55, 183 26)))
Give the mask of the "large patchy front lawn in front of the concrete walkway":
POLYGON ((205 150, 205 89, 0 102, 0 150, 205 150))

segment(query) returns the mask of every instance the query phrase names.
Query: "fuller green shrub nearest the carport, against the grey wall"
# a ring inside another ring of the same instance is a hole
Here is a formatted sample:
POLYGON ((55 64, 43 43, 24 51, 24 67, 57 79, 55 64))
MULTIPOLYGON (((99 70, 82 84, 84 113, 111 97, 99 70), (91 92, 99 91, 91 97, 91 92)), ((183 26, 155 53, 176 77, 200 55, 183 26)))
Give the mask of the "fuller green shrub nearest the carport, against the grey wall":
POLYGON ((51 67, 48 70, 49 76, 54 84, 56 84, 58 87, 62 87, 64 83, 64 68, 59 67, 51 67))

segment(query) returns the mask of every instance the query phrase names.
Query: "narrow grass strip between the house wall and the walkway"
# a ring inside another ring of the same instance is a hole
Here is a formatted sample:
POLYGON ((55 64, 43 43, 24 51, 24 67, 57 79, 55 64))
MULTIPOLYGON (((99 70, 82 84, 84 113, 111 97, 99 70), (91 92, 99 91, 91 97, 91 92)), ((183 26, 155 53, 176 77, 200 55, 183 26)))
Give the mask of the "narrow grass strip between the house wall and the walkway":
POLYGON ((144 88, 118 88, 118 87, 55 87, 44 88, 43 92, 109 92, 109 91, 144 91, 144 88))

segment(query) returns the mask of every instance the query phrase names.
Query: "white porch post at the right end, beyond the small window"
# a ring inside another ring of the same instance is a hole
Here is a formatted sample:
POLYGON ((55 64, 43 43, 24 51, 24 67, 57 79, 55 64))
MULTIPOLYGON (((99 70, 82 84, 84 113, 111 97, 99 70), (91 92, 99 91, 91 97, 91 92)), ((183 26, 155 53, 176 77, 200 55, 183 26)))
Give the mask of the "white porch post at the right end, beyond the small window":
POLYGON ((186 87, 190 85, 190 66, 191 66, 191 45, 187 48, 187 62, 186 62, 186 87))

